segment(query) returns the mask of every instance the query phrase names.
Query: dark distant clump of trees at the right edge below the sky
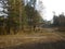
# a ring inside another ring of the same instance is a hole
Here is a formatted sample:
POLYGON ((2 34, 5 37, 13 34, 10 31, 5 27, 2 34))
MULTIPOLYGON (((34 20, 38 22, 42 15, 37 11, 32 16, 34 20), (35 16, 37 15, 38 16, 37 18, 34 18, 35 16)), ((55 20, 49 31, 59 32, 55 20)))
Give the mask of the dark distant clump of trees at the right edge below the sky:
POLYGON ((53 26, 57 27, 60 32, 65 32, 65 15, 64 13, 57 15, 54 15, 53 17, 53 26))

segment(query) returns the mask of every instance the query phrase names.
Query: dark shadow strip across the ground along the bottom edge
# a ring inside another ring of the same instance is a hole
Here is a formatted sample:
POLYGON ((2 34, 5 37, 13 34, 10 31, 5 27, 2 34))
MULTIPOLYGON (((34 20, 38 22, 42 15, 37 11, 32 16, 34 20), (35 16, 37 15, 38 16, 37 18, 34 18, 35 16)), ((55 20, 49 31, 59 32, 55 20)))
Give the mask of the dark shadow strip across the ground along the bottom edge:
POLYGON ((3 49, 65 49, 65 41, 63 40, 56 42, 35 42, 3 49))

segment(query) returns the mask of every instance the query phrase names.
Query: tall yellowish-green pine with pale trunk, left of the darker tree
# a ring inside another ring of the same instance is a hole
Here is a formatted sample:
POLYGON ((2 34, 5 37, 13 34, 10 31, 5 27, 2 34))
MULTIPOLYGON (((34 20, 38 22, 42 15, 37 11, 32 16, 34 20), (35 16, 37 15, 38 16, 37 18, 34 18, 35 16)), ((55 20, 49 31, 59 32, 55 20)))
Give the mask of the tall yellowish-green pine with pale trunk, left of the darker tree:
MULTIPOLYGON (((10 0, 9 5, 9 22, 11 22, 11 27, 15 26, 20 30, 24 29, 24 26, 27 24, 24 0, 10 0)), ((15 27, 14 29, 16 29, 15 27)))

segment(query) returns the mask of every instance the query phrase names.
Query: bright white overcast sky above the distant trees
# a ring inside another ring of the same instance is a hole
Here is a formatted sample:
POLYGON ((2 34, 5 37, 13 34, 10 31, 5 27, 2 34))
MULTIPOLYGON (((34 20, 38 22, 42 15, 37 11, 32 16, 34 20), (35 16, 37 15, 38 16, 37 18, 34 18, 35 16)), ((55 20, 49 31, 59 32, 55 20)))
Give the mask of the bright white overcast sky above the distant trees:
POLYGON ((65 13, 65 0, 40 0, 44 7, 42 11, 42 17, 47 21, 51 21, 53 19, 53 12, 56 15, 62 12, 65 13))

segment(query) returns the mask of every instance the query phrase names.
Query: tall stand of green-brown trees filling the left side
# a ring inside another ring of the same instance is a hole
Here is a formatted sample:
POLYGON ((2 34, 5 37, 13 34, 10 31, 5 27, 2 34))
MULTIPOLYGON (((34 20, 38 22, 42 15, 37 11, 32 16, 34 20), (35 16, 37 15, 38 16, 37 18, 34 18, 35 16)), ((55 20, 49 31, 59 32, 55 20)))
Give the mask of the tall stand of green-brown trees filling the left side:
MULTIPOLYGON (((0 16, 0 35, 16 34, 29 27, 32 30, 41 16, 36 10, 37 0, 1 0, 4 15, 0 16)), ((1 13, 0 12, 0 13, 1 13)))

